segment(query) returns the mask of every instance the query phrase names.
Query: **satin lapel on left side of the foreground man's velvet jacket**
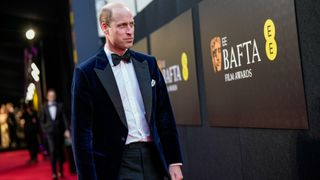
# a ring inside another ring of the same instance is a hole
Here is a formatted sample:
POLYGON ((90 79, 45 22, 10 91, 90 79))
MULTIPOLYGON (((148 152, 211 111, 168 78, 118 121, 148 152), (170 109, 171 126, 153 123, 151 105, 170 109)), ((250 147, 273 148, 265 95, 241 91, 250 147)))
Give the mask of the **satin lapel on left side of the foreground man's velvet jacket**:
MULTIPOLYGON (((104 53, 104 51, 103 51, 103 53, 104 53)), ((109 97, 110 97, 114 107, 116 108, 117 113, 118 113, 122 123, 126 127, 128 127, 126 116, 125 116, 123 105, 122 105, 122 101, 121 101, 121 97, 120 97, 120 93, 118 90, 118 86, 117 86, 116 80, 114 78, 111 66, 108 62, 108 59, 106 56, 105 56, 105 59, 101 59, 101 57, 98 57, 98 61, 107 61, 104 69, 95 68, 94 70, 95 70, 96 74, 98 75, 99 80, 100 80, 101 84, 103 85, 104 89, 109 94, 109 97)))

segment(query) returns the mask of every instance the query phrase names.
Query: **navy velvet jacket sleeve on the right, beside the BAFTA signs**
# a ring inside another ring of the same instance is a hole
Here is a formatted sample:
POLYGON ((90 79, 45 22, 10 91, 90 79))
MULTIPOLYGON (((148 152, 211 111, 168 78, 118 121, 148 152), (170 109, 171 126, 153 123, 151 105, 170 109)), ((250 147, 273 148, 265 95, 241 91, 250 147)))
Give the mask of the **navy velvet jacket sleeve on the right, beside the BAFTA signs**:
POLYGON ((173 163, 182 163, 179 137, 166 83, 157 65, 154 69, 157 77, 156 123, 163 153, 169 166, 173 163))

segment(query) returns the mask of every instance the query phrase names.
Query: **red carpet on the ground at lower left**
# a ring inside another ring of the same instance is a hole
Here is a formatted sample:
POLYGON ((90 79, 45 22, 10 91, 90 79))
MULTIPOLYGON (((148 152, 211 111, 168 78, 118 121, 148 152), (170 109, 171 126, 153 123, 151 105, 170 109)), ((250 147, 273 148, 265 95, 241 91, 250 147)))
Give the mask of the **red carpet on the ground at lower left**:
MULTIPOLYGON (((50 160, 39 155, 38 163, 28 165, 27 150, 0 153, 1 180, 51 180, 50 160)), ((75 174, 70 174, 69 164, 64 163, 64 178, 61 180, 76 180, 75 174)))

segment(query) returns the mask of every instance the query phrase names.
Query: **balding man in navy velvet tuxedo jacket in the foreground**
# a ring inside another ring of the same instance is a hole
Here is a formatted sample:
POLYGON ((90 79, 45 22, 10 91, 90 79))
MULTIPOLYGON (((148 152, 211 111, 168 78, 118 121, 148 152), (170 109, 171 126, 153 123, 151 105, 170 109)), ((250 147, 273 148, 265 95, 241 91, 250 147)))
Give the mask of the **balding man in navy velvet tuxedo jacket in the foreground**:
POLYGON ((79 180, 182 179, 175 119, 156 59, 129 49, 132 13, 109 3, 100 27, 106 44, 75 68, 72 84, 79 180))

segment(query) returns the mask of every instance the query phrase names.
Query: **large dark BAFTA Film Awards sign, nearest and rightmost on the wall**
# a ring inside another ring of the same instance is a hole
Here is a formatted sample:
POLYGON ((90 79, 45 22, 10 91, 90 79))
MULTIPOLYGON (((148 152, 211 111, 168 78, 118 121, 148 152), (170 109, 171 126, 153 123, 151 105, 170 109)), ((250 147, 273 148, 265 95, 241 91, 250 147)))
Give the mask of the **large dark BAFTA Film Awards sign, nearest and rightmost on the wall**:
POLYGON ((294 0, 207 0, 199 13, 210 125, 307 129, 294 0))

